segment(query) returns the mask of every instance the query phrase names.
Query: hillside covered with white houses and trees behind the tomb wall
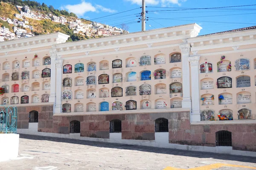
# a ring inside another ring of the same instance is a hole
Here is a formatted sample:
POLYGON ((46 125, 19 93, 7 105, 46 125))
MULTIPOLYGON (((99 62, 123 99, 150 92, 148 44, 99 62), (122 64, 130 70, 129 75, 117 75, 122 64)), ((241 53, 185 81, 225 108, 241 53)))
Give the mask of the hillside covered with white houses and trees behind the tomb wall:
POLYGON ((32 8, 29 5, 18 4, 0 2, 0 41, 52 32, 70 35, 68 41, 129 33, 127 30, 115 26, 79 19, 73 13, 55 10, 52 6, 47 7, 44 3, 40 6, 47 8, 41 11, 36 10, 35 6, 32 8))

